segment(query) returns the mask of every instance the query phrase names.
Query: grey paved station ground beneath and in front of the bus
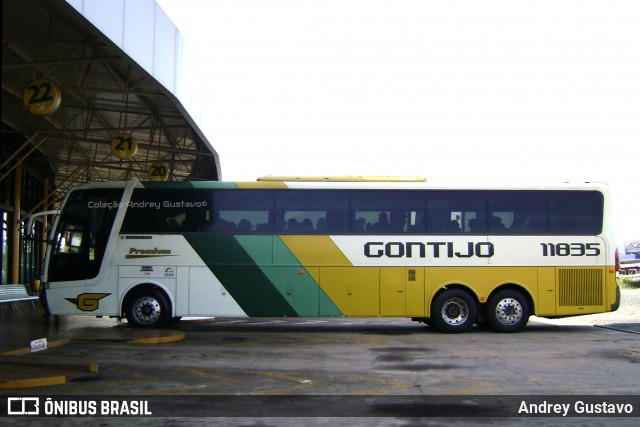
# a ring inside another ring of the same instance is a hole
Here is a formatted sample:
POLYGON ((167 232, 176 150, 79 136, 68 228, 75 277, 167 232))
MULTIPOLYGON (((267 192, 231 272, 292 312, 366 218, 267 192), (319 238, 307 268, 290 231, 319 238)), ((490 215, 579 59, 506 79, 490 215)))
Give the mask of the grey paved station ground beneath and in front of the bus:
MULTIPOLYGON (((532 318, 517 334, 476 327, 445 335, 408 319, 197 319, 165 330, 139 330, 116 319, 46 318, 37 305, 5 304, 0 307, 0 394, 165 399, 151 402, 162 417, 154 419, 171 425, 299 425, 300 419, 314 425, 450 425, 456 411, 469 415, 464 411, 470 397, 488 398, 475 404, 489 412, 513 405, 504 400, 508 396, 637 400, 639 310, 640 290, 623 290, 621 308, 614 313, 532 318), (47 349, 32 352, 30 343, 41 338, 47 339, 47 349), (202 396, 209 399, 205 406, 189 400, 202 396), (229 396, 240 397, 224 400, 229 396), (247 396, 289 400, 247 401, 247 396), (296 400, 318 396, 324 400, 296 400), (446 399, 415 406, 415 399, 425 396, 446 399), (254 412, 246 410, 248 405, 254 412), (202 407, 213 412, 198 413, 202 407), (332 417, 304 410, 323 407, 332 417), (267 408, 266 415, 255 412, 260 408, 267 408), (273 418, 278 408, 284 418, 273 418), (172 411, 179 417, 167 418, 172 411), (439 418, 443 413, 446 418, 439 418)), ((482 415, 457 420, 486 425, 488 419, 478 418, 482 415)), ((5 420, 21 422, 15 417, 0 421, 5 420)), ((50 421, 30 419, 29 424, 39 425, 38 420, 50 421)), ((100 424, 118 420, 102 418, 100 424)), ((144 420, 135 418, 132 425, 144 420)), ((508 425, 529 425, 524 418, 509 420, 508 425)), ((632 418, 562 421, 637 424, 632 418)), ((491 424, 505 422, 491 419, 491 424)), ((64 424, 83 425, 82 418, 64 424)), ((557 425, 557 420, 536 418, 535 424, 557 425)))

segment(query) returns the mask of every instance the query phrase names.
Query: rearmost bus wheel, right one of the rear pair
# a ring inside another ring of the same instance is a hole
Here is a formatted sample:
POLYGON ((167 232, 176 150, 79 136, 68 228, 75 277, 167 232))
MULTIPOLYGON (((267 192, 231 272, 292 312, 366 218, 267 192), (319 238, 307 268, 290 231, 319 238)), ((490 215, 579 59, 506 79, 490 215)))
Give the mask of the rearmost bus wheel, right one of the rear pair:
POLYGON ((496 332, 518 332, 530 316, 529 301, 522 292, 506 289, 497 292, 487 303, 487 321, 496 332))

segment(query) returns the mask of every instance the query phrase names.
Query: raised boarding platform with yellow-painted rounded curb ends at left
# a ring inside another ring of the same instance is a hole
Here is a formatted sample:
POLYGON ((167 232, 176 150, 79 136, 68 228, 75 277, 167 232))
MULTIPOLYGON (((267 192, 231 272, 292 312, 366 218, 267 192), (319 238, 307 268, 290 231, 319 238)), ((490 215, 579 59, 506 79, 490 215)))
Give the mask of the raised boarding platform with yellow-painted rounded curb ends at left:
POLYGON ((0 304, 0 390, 64 384, 98 373, 99 366, 92 360, 52 357, 38 352, 44 340, 46 347, 51 348, 78 341, 135 345, 182 339, 182 331, 133 329, 118 319, 45 316, 38 301, 3 303, 0 304))

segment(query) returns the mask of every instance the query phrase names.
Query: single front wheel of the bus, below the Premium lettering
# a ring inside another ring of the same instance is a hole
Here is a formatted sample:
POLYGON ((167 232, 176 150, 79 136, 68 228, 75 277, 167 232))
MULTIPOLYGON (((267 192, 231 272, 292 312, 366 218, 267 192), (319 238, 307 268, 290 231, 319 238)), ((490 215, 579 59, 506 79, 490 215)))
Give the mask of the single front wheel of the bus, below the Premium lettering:
POLYGON ((140 288, 127 298, 125 313, 134 328, 162 328, 171 319, 167 296, 157 288, 140 288))

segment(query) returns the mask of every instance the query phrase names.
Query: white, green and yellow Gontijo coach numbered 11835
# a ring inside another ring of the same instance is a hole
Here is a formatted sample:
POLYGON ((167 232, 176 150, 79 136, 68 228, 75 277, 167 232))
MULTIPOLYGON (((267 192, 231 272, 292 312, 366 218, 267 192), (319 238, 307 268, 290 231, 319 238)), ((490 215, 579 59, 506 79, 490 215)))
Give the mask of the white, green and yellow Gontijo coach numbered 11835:
POLYGON ((54 315, 158 328, 185 316, 405 317, 446 333, 620 303, 607 186, 401 178, 105 182, 56 217, 54 315))

